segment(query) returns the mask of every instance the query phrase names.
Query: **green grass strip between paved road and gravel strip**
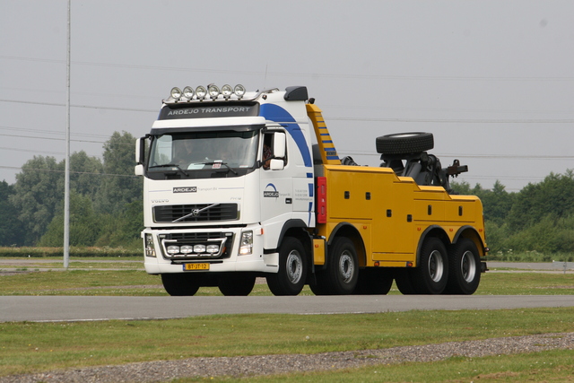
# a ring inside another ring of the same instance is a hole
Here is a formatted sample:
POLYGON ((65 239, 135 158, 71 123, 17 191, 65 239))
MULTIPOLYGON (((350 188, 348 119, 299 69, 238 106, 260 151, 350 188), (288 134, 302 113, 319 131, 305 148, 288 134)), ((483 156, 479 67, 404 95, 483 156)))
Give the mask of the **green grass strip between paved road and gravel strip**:
POLYGON ((574 332, 574 308, 0 324, 0 376, 130 361, 327 353, 574 332))

